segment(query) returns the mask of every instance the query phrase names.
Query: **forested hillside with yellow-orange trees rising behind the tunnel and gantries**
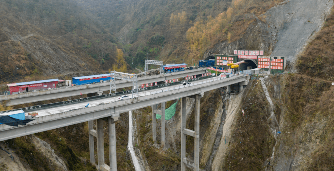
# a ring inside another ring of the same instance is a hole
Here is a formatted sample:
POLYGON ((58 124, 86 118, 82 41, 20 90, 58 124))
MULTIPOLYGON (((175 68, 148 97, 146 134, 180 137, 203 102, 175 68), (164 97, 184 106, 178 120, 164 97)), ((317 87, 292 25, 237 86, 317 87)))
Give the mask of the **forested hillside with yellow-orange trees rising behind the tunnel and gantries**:
POLYGON ((128 63, 134 58, 143 67, 147 56, 196 63, 215 43, 238 40, 255 21, 252 13, 259 16, 283 0, 76 1, 115 33, 128 63))

